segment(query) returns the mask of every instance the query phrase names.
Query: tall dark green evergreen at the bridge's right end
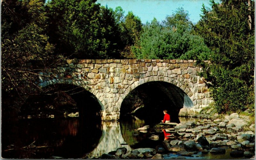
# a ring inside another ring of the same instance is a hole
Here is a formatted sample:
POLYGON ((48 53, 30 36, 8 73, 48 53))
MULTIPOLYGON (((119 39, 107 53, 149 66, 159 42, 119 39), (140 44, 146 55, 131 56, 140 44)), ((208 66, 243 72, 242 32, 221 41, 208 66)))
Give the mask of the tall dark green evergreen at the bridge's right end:
POLYGON ((204 77, 213 84, 219 112, 245 110, 254 103, 254 2, 211 2, 212 10, 203 6, 195 27, 213 51, 204 77))

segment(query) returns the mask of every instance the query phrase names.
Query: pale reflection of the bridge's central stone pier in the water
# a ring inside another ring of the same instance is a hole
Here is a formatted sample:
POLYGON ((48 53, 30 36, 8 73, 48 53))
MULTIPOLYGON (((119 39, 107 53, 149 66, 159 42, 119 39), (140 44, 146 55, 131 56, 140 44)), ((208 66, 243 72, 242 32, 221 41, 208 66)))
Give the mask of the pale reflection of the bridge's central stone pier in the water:
POLYGON ((125 147, 127 151, 132 150, 124 141, 119 122, 102 122, 102 136, 97 147, 88 154, 88 157, 98 157, 104 153, 125 147))

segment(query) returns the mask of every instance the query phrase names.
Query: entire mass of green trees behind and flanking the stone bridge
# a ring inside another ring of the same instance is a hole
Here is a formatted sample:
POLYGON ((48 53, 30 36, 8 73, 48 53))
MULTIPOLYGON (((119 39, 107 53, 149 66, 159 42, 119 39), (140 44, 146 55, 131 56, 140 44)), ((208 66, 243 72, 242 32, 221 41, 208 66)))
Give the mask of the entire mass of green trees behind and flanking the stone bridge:
POLYGON ((45 69, 63 57, 209 59, 203 76, 212 82, 219 112, 254 108, 254 1, 212 1, 202 11, 195 25, 182 8, 143 25, 132 12, 96 0, 4 0, 3 100, 15 95, 20 103, 41 91, 35 81, 42 68, 30 68, 30 60, 53 60, 45 69))

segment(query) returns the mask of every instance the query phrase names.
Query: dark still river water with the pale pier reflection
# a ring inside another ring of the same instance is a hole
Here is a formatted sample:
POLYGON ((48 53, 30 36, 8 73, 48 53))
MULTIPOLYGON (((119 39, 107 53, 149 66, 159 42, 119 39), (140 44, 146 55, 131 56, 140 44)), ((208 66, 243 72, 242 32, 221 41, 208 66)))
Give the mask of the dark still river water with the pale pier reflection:
MULTIPOLYGON (((152 118, 153 119, 153 118, 152 118)), ((146 121, 128 116, 120 122, 83 122, 79 118, 12 118, 2 123, 3 158, 92 158, 125 147, 156 148, 164 141, 164 134, 155 132, 153 125, 159 122, 146 121), (139 133, 137 128, 149 125, 147 133, 139 133), (158 141, 148 139, 152 134, 159 135, 158 141), (33 143, 30 149, 22 147, 33 143), (34 145, 34 146, 33 146, 34 145)), ((195 120, 180 117, 180 122, 195 120)), ((192 155, 193 159, 229 159, 226 154, 192 155)), ((176 154, 164 154, 164 158, 175 158, 176 154)), ((240 157, 241 158, 241 157, 240 157)))

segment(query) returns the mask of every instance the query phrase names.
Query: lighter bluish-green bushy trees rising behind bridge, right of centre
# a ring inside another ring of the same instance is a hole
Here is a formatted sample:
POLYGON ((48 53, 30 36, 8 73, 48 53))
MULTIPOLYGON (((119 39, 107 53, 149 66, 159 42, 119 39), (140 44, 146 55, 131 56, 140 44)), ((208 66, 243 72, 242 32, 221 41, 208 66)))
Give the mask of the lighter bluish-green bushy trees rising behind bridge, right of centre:
POLYGON ((192 33, 188 13, 179 8, 163 24, 156 19, 143 26, 140 48, 134 48, 137 58, 200 59, 209 58, 210 50, 199 35, 192 33))

